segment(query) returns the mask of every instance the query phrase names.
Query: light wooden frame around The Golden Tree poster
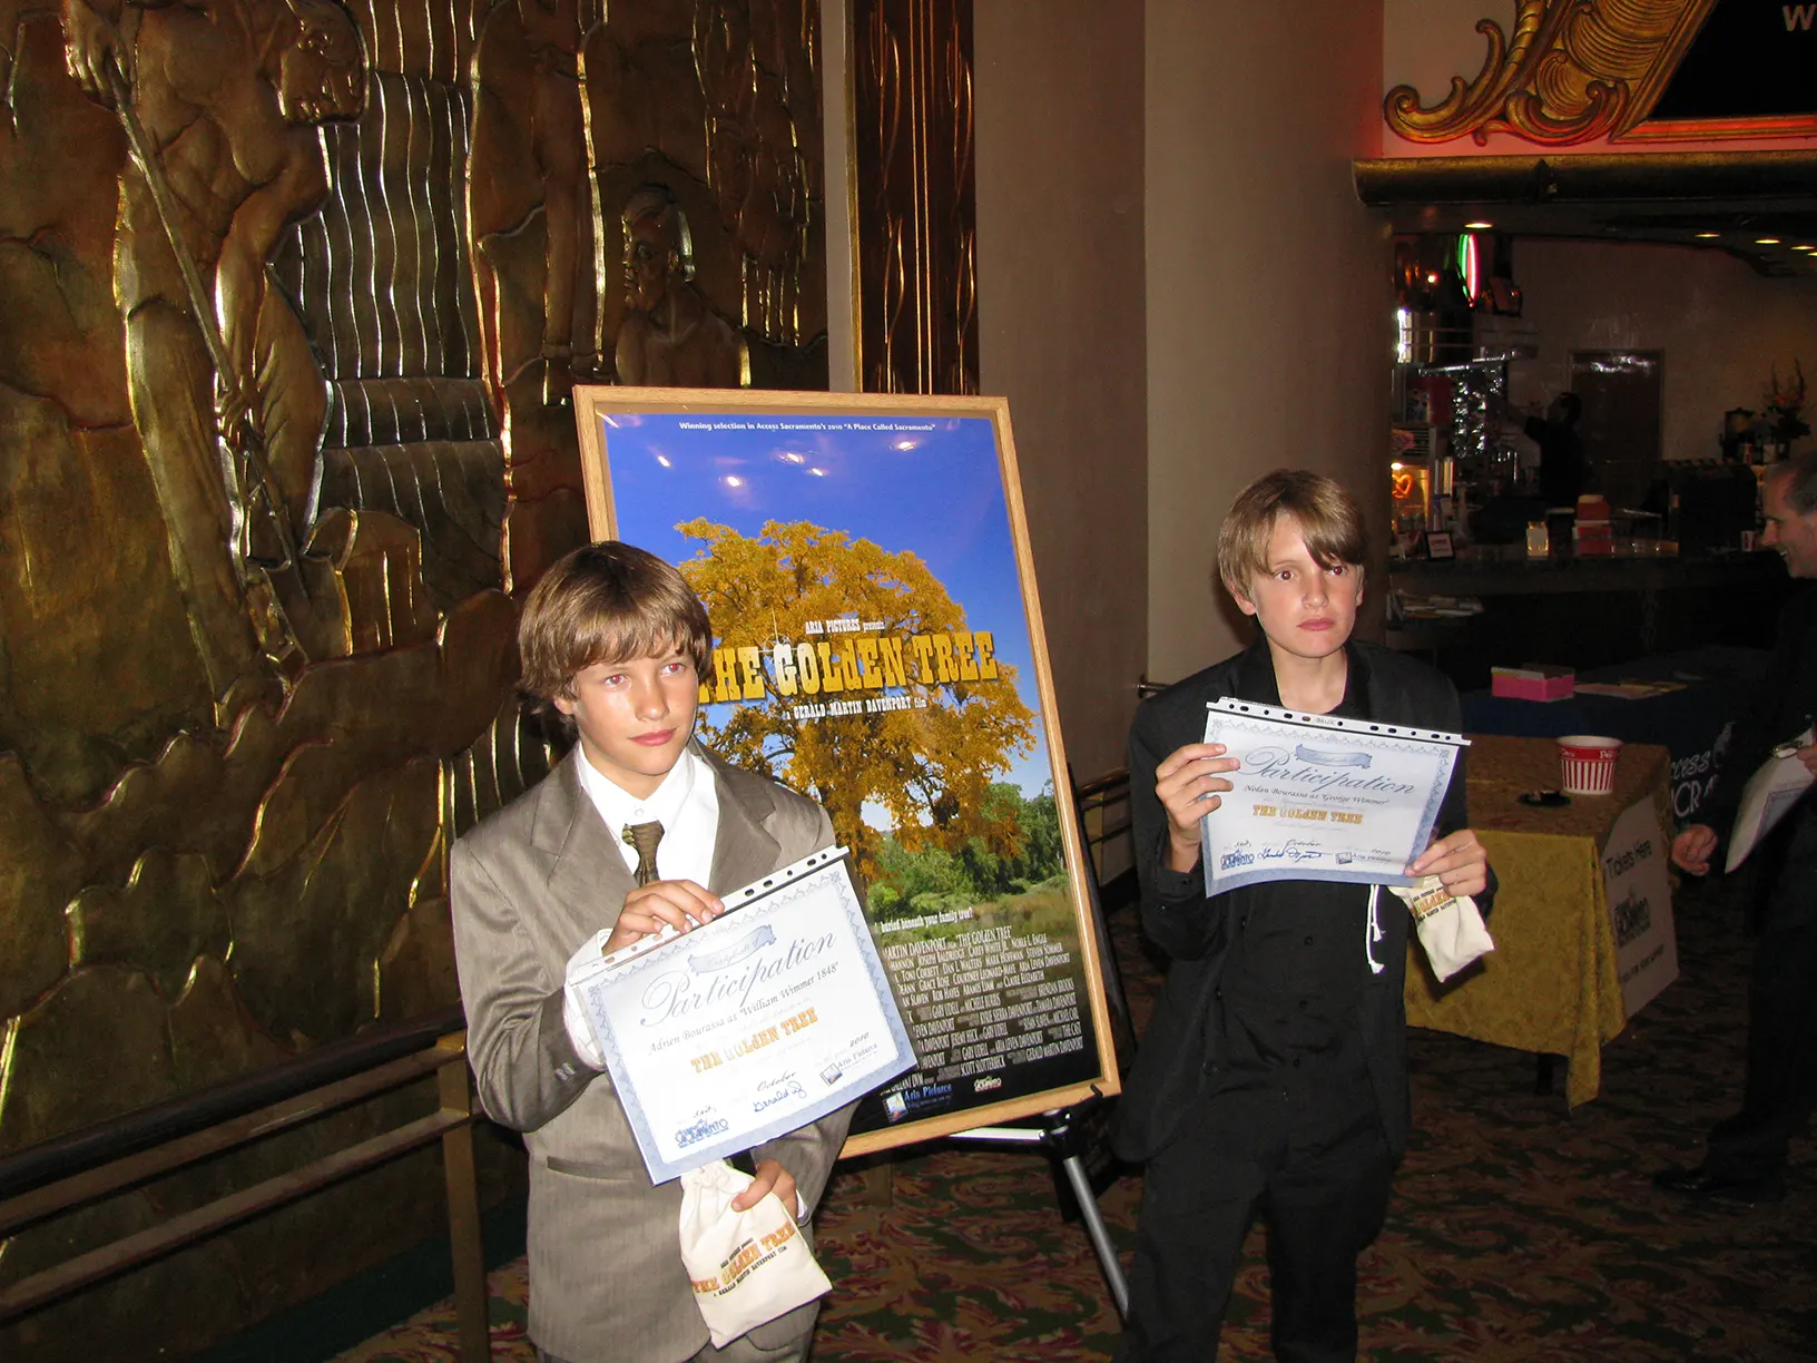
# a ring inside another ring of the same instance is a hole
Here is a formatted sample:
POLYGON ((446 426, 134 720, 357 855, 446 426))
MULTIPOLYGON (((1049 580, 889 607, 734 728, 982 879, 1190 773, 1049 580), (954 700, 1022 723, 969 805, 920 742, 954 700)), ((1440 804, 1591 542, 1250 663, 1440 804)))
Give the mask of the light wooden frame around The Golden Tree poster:
MULTIPOLYGON (((707 494, 714 496, 720 494, 718 487, 707 485, 707 474, 705 474, 707 458, 703 453, 700 453, 710 447, 709 442, 716 440, 716 431, 720 427, 740 433, 736 436, 727 436, 725 438, 727 442, 745 440, 749 438, 749 433, 752 429, 812 431, 814 434, 805 434, 796 440, 801 442, 803 447, 809 447, 807 442, 819 442, 821 449, 830 447, 836 456, 847 453, 845 449, 838 447, 838 442, 841 440, 839 433, 858 431, 863 434, 843 436, 847 443, 850 443, 852 447, 850 453, 861 454, 861 458, 867 460, 878 460, 879 456, 874 453, 876 451, 874 443, 870 443, 869 449, 861 449, 865 442, 874 442, 878 431, 883 429, 959 431, 963 427, 968 433, 967 440, 976 440, 979 431, 978 427, 965 427, 963 425, 965 418, 981 418, 988 422, 990 443, 994 445, 996 451, 999 487, 990 489, 988 473, 981 469, 974 469, 972 476, 976 476, 979 480, 979 485, 985 487, 987 491, 1001 494, 1001 509, 1003 514, 1007 516, 1007 540, 1008 547, 1014 551, 1014 578, 1016 578, 1014 589, 1021 605, 1021 620, 1027 625, 1025 658, 1027 663, 1030 663, 1032 682, 1034 682, 1034 700, 1038 700, 1038 705, 1030 707, 1038 711, 1038 714, 1032 716, 1032 725, 1030 725, 1036 736, 1034 751, 1045 747, 1047 752, 1047 767, 1050 769, 1048 774, 1054 791, 1054 812, 1057 816, 1059 836, 1063 845, 1063 860, 1067 871, 1067 898, 1070 900, 1072 929, 1077 940, 1076 949, 1070 952, 1072 960, 1065 965, 1065 970, 1070 974, 1072 980, 1076 980, 1081 985, 1079 992, 1083 992, 1083 1000, 1077 1000, 1077 1012, 1087 1014, 1090 1018, 1090 1034, 1081 1038, 1083 1049, 1063 1050, 1057 1056, 1057 1060, 1070 1061, 1081 1067, 1090 1067, 1092 1072, 1088 1074, 1081 1072, 1079 1078, 1068 1078, 1067 1081, 1056 1083, 1054 1087, 1043 1087, 1032 1092, 1016 1092, 1014 1078, 1003 1078, 1003 1074, 998 1074, 996 1083, 990 1083, 988 1072, 954 1074, 952 1076, 954 1081, 948 1083, 947 1089, 958 1092, 961 1089, 961 1083, 965 1079, 970 1079, 968 1085, 963 1085, 970 1092, 963 1099, 958 1099, 948 1110, 928 1110, 927 1116, 914 1116, 914 1110, 910 1109, 908 1112, 898 1118, 896 1109, 890 1107, 889 1125, 879 1125, 874 1129, 856 1132, 847 1141, 843 1154, 859 1156, 859 1154, 872 1154, 878 1150, 889 1150, 899 1145, 910 1145, 914 1141, 948 1136, 959 1130, 1001 1125, 1007 1121, 1018 1121, 1043 1112, 1052 1112, 1056 1109, 1065 1109, 1072 1103, 1085 1101, 1094 1094, 1110 1096, 1119 1092, 1121 1081, 1117 1076, 1116 1040, 1112 1034, 1112 1018, 1105 996, 1103 961, 1099 960, 1099 932, 1096 923, 1096 912, 1090 903, 1090 892, 1088 892, 1090 887, 1087 883, 1087 876, 1090 876, 1092 872, 1090 872, 1090 861, 1085 856, 1085 845, 1077 827, 1077 814, 1074 809, 1072 791, 1067 776, 1067 751, 1059 732, 1057 707, 1054 700, 1052 667, 1048 662, 1047 634, 1041 623, 1041 602, 1036 587, 1034 554, 1028 543, 1028 527, 1023 512, 1021 482, 1016 465, 1016 443, 1010 433, 1008 402, 1005 398, 981 398, 981 396, 778 393, 778 391, 750 391, 750 389, 636 389, 636 387, 614 387, 614 385, 576 385, 574 420, 580 433, 581 471, 587 489, 587 522, 596 538, 618 538, 621 525, 618 498, 623 496, 623 487, 614 491, 612 453, 609 449, 609 443, 614 440, 614 436, 607 433, 609 429, 620 429, 620 423, 623 423, 627 431, 636 429, 640 425, 640 418, 658 418, 658 422, 650 423, 652 433, 658 425, 661 425, 665 433, 674 433, 678 429, 689 431, 687 434, 687 440, 690 442, 689 449, 696 451, 694 458, 701 467, 701 473, 689 474, 700 480, 696 482, 696 487, 701 489, 701 505, 694 505, 692 502, 687 500, 690 496, 687 492, 687 480, 685 476, 678 474, 680 476, 680 491, 676 492, 678 502, 676 509, 669 512, 672 520, 665 523, 665 529, 667 525, 705 516, 710 509, 705 502, 707 494), (612 418, 618 420, 614 422, 612 418), (674 420, 667 420, 667 423, 663 423, 663 418, 701 418, 701 420, 690 423, 689 427, 680 427, 680 423, 674 420), (892 422, 898 423, 914 422, 921 425, 894 427, 889 425, 892 422), (832 443, 829 445, 829 442, 832 443), (1090 1060, 1094 1054, 1096 1054, 1096 1065, 1092 1067, 1090 1060), (1074 1056, 1077 1056, 1076 1061, 1074 1056), (1010 1094, 1003 1098, 981 1096, 992 1092, 998 1087, 1010 1089, 1010 1094)), ((654 445, 630 443, 632 440, 641 442, 645 438, 654 440, 656 436, 654 434, 645 436, 640 433, 636 436, 627 434, 623 438, 627 443, 621 445, 621 451, 627 454, 627 460, 630 451, 641 451, 643 454, 654 453, 654 445)), ((756 445, 756 440, 763 438, 767 436, 754 438, 752 447, 756 445)), ((790 438, 776 436, 776 440, 779 443, 787 443, 790 438)), ((938 443, 938 436, 928 436, 927 440, 930 443, 938 443)), ((725 449, 730 451, 732 445, 727 443, 725 449)), ((807 456, 796 456, 792 453, 785 453, 774 458, 794 460, 796 463, 799 463, 807 456)), ((661 463, 663 469, 672 467, 667 456, 658 454, 650 462, 661 463)), ((978 462, 983 463, 981 456, 978 462)), ((680 463, 681 460, 678 458, 676 467, 680 467, 680 463)), ((732 467, 730 462, 716 460, 714 482, 730 483, 730 487, 740 487, 741 483, 736 474, 732 476, 723 474, 723 471, 729 467, 732 467)), ((858 469, 858 467, 859 467, 858 458, 854 458, 850 465, 841 465, 841 469, 858 469)), ((625 482, 632 480, 632 473, 629 473, 630 469, 632 469, 630 463, 620 469, 625 482)), ((685 469, 681 473, 685 473, 685 469)), ((776 478, 781 476, 778 469, 770 467, 769 463, 765 463, 765 467, 760 469, 758 473, 760 476, 776 476, 776 478)), ((783 469, 781 473, 787 473, 787 469, 783 469)), ((807 473, 818 473, 818 471, 807 469, 807 473)), ((874 473, 869 471, 863 473, 867 473, 870 478, 879 480, 879 483, 887 476, 881 462, 876 465, 874 473)), ((661 476, 667 478, 669 474, 661 476)), ((889 476, 896 478, 896 487, 901 487, 901 478, 903 478, 901 471, 894 471, 889 476)), ((914 474, 910 473, 907 476, 914 474)), ((887 487, 879 485, 876 496, 883 498, 885 492, 887 487)), ((665 487, 663 496, 667 494, 669 492, 665 487)), ((932 496, 932 492, 928 492, 927 487, 921 489, 921 494, 932 496)), ((638 496, 638 492, 632 491, 630 496, 638 496)), ((859 489, 859 496, 861 502, 854 502, 852 505, 863 505, 865 514, 879 512, 879 502, 872 500, 869 487, 859 489)), ((669 503, 663 505, 667 507, 669 503)), ((907 516, 899 512, 899 507, 890 505, 889 509, 894 516, 890 523, 896 525, 905 523, 907 516)), ((747 512, 747 514, 754 516, 756 512, 747 512)), ((769 514, 763 516, 763 520, 794 520, 794 518, 770 511, 769 514)), ((847 532, 850 527, 830 525, 827 529, 847 532)), ((749 529, 741 532, 754 532, 754 531, 758 531, 758 525, 750 523, 749 529)), ((943 534, 941 527, 934 527, 932 536, 925 536, 923 540, 914 542, 910 547, 912 549, 921 549, 923 545, 938 547, 941 542, 941 534, 943 534)), ((856 542, 872 536, 850 534, 850 538, 856 542)), ((872 543, 878 543, 878 540, 872 538, 872 543)), ((652 547, 656 549, 656 552, 661 552, 663 556, 670 558, 676 552, 672 543, 650 543, 645 547, 652 547)), ((898 547, 901 547, 899 540, 894 543, 881 543, 881 549, 890 552, 894 552, 898 547)), ((696 558, 689 562, 703 562, 707 560, 707 556, 709 551, 700 551, 696 558)), ((992 582, 992 585, 1005 589, 1008 587, 1008 583, 1001 582, 992 582)), ((958 605, 961 611, 965 609, 963 600, 958 602, 958 605)), ((854 622, 850 620, 845 620, 843 623, 847 627, 854 625, 854 622)), ((970 625, 961 625, 961 627, 970 629, 970 625)), ((716 647, 720 647, 721 640, 714 640, 714 643, 716 647)), ((1016 643, 1019 645, 1019 640, 1016 640, 1016 643)), ((787 647, 805 647, 805 645, 790 645, 785 642, 774 643, 774 649, 778 651, 783 651, 787 647)), ((854 643, 852 647, 854 652, 858 652, 858 645, 854 643)), ((1023 654, 1018 652, 1018 656, 1023 654)), ((850 667, 850 663, 847 663, 847 667, 850 667)), ((923 663, 923 667, 927 665, 923 663)), ((743 685, 747 687, 745 696, 752 694, 749 687, 761 687, 761 698, 765 701, 774 701, 774 703, 779 703, 783 694, 787 694, 778 691, 778 663, 770 656, 763 656, 763 660, 756 665, 754 672, 749 669, 741 669, 741 676, 743 676, 743 685)), ((845 676, 850 678, 852 672, 847 672, 845 676)), ((898 676, 905 674, 898 672, 898 676)), ((927 703, 930 703, 930 700, 938 701, 941 685, 928 683, 925 671, 916 674, 916 678, 918 680, 905 683, 901 691, 907 694, 908 691, 921 687, 921 692, 925 694, 918 692, 916 703, 919 707, 925 707, 927 703)), ((878 685, 874 674, 870 685, 878 685)), ((950 694, 952 691, 956 691, 956 687, 948 685, 947 691, 950 694)), ((1025 698, 1027 694, 1019 683, 1016 687, 1016 694, 1018 698, 1025 698)), ((863 716, 850 716, 850 720, 863 720, 863 716)), ((898 823, 896 827, 901 825, 898 823)), ((839 841, 847 841, 849 834, 847 831, 839 829, 838 823, 834 832, 839 838, 839 841)), ((979 905, 981 910, 996 907, 999 905, 979 905)), ((968 914, 970 910, 963 912, 963 916, 968 914)), ((872 932, 889 930, 889 929, 879 929, 876 918, 872 918, 870 921, 872 921, 872 932)), ((919 921, 923 920, 910 921, 910 927, 918 925, 919 921)), ((932 921, 932 916, 927 921, 932 921)), ((947 918, 943 916, 941 921, 945 923, 947 918)), ((885 941, 885 938, 879 936, 879 941, 885 941)), ((1043 938, 1043 949, 1045 941, 1047 940, 1043 938)), ((1018 978, 1027 980, 1028 976, 1023 974, 1018 978)), ((1043 987, 1047 983, 1048 976, 1043 972, 1043 987)), ((896 987, 899 994, 907 994, 901 980, 896 980, 896 987)), ((996 1012, 1001 1014, 1003 1010, 998 1009, 996 1012)), ((961 1020, 954 1021, 958 1023, 961 1020)), ((1001 1036, 1001 1027, 1007 1025, 1008 1023, 998 1025, 999 1036, 1001 1036)), ((988 1036, 987 1029, 979 1030, 985 1036, 988 1036)), ((912 1034, 916 1032, 914 1025, 910 1025, 910 1032, 912 1034)), ((952 1036, 958 1036, 958 1029, 952 1032, 952 1036)), ((1045 1036, 1054 1036, 1054 1032, 1048 1030, 1045 1032, 1045 1036)), ((1014 1041, 1016 1038, 1003 1036, 1001 1040, 1008 1049, 1010 1041, 1014 1041)), ((1027 1040, 1027 1032, 1023 1034, 1023 1040, 1027 1040)), ((921 1049, 919 1038, 918 1038, 918 1049, 921 1049)), ((976 1052, 978 1045, 970 1045, 967 1047, 967 1050, 976 1052)), ((1027 1056, 1032 1052, 1025 1049, 1021 1054, 1027 1056)), ((996 1060, 996 1052, 990 1056, 990 1060, 996 1060)), ((1048 1061, 1043 1060, 1028 1063, 1047 1065, 1048 1061)), ((919 1087, 910 1087, 908 1096, 918 1098, 932 1092, 934 1098, 928 1101, 932 1105, 938 1105, 943 1094, 936 1090, 939 1090, 941 1083, 945 1083, 945 1076, 948 1074, 948 1070, 958 1070, 958 1069, 965 1067, 943 1065, 939 1070, 939 1074, 943 1076, 939 1083, 932 1079, 932 1070, 930 1072, 918 1070, 914 1076, 910 1076, 910 1081, 918 1079, 921 1083, 919 1087)), ((1010 1067, 1007 1072, 1014 1076, 1014 1067, 1010 1067)), ((892 1094, 896 1089, 898 1085, 889 1085, 881 1092, 892 1094)), ((870 1103, 870 1099, 867 1099, 867 1103, 870 1103)), ((861 1107, 859 1121, 865 1119, 867 1119, 867 1109, 861 1107)))

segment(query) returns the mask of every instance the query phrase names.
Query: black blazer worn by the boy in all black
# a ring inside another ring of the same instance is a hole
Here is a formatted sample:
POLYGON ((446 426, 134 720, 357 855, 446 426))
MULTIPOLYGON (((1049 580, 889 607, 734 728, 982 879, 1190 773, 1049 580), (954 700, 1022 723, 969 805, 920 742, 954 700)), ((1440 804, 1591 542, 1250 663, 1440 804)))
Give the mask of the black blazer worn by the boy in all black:
MULTIPOLYGON (((1445 674, 1405 654, 1352 640, 1345 645, 1352 663, 1368 676, 1368 718, 1419 729, 1455 732, 1463 725, 1457 689, 1445 674)), ((1274 662, 1266 640, 1216 667, 1188 676, 1136 711, 1130 727, 1130 812, 1136 838, 1136 878, 1141 883, 1141 920, 1150 940, 1170 958, 1167 985, 1136 1054, 1136 1067, 1117 1103, 1114 1145, 1125 1159, 1147 1159, 1163 1149, 1181 1119, 1203 1096, 1206 1050, 1205 1018, 1230 950, 1228 921, 1241 916, 1248 889, 1216 900, 1205 898, 1205 872, 1168 871, 1167 809, 1154 792, 1154 771, 1183 743, 1205 738, 1205 705, 1221 696, 1279 705, 1274 662)), ((1457 754, 1452 783, 1439 811, 1439 834, 1465 827, 1465 751, 1457 754)), ((1361 892, 1361 887, 1359 887, 1361 892)), ((1477 896, 1486 914, 1495 892, 1477 896)), ((1406 936, 1412 923, 1405 905, 1383 896, 1379 947, 1386 967, 1365 985, 1363 1054, 1377 1109, 1395 1158, 1406 1149, 1410 1121, 1406 1094, 1406 936)), ((1216 1041, 1214 1041, 1216 1043, 1216 1041)))

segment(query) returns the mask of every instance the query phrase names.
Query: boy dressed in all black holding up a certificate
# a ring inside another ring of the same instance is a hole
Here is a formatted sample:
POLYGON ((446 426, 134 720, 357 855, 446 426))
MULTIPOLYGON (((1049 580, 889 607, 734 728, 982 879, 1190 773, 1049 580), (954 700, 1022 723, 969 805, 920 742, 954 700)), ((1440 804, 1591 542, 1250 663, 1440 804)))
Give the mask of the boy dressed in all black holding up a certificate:
MULTIPOLYGON (((1208 1359, 1257 1210, 1268 1225, 1274 1352, 1352 1363, 1355 1261, 1381 1229, 1406 1145, 1410 916, 1355 883, 1276 880, 1205 896, 1199 820, 1236 758, 1199 741, 1210 701, 1459 727, 1432 667, 1350 638, 1363 518, 1330 478, 1277 471, 1237 496, 1217 569, 1263 638, 1145 701, 1130 731, 1141 914, 1172 958, 1117 1109, 1116 1149, 1147 1161, 1119 1363, 1208 1359)), ((1488 907, 1465 827, 1463 754, 1437 838, 1408 867, 1488 907)))

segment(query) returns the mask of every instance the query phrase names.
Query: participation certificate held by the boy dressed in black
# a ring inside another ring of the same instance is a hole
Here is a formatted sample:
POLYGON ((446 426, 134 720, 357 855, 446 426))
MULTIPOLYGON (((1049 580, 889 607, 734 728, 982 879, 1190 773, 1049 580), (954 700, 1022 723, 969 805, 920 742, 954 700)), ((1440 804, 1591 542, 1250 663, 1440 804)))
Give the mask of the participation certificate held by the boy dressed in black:
POLYGON ((1265 880, 1412 885, 1463 734, 1296 714, 1245 700, 1206 707, 1205 741, 1241 763, 1199 820, 1205 894, 1265 880))

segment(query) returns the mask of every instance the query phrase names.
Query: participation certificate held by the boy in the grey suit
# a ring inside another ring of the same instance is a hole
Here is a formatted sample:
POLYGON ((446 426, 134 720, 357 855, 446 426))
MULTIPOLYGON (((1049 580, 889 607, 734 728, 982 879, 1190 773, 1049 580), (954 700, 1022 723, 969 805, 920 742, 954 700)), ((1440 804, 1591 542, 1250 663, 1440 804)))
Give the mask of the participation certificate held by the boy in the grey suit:
POLYGON ((654 1183, 914 1067, 847 849, 723 898, 705 927, 645 938, 576 980, 654 1183))

